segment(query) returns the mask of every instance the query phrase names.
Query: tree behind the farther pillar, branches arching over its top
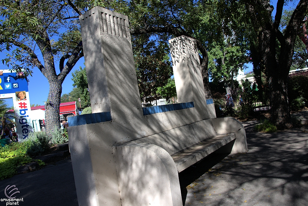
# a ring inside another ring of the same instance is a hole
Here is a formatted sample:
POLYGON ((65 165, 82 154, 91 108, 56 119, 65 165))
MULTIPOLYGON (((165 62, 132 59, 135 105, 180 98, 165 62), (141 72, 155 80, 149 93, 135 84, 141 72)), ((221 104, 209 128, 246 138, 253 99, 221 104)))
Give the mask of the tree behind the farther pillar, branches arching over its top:
MULTIPOLYGON (((200 64, 205 97, 212 98, 209 88, 207 46, 216 38, 219 24, 212 22, 217 16, 217 1, 194 2, 188 0, 129 2, 131 34, 152 34, 157 39, 171 39, 185 35, 196 39, 200 51, 200 64)), ((218 32, 219 33, 219 32, 218 32)))

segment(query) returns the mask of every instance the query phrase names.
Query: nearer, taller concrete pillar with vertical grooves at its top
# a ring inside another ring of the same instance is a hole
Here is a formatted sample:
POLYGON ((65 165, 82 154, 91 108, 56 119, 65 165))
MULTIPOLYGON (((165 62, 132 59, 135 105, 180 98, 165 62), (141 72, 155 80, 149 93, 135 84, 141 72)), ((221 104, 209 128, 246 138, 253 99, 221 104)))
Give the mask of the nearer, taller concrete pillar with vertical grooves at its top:
POLYGON ((79 19, 92 113, 140 113, 128 17, 95 7, 79 19))

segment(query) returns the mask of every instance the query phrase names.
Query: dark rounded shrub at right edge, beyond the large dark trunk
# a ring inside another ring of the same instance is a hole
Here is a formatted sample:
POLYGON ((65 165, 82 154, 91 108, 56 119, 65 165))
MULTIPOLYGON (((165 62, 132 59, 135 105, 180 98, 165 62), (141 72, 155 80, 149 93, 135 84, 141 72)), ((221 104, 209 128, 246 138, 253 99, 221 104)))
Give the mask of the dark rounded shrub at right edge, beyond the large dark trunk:
POLYGON ((290 76, 288 79, 288 97, 291 110, 297 111, 308 106, 308 75, 290 76))

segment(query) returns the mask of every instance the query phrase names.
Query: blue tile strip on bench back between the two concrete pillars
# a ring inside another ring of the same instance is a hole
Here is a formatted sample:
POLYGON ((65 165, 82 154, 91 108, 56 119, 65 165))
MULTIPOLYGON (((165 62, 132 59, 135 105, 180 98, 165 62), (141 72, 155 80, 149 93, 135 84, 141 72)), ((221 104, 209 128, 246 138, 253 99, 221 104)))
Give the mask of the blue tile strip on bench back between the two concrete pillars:
POLYGON ((171 105, 159 105, 159 106, 152 106, 152 107, 143 107, 143 115, 149 114, 156 114, 162 112, 169 112, 174 110, 180 109, 188 109, 193 108, 195 105, 192 102, 185 102, 185 103, 178 103, 178 104, 171 104, 171 105))

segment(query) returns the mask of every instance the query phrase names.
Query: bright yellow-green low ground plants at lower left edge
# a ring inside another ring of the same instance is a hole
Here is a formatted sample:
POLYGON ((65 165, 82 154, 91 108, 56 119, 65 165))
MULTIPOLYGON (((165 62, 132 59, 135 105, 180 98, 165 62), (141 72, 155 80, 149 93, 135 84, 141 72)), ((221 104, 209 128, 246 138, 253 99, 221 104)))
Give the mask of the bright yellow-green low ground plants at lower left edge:
POLYGON ((41 160, 33 160, 27 156, 27 150, 32 145, 31 140, 13 142, 5 147, 0 147, 0 179, 12 177, 16 174, 19 166, 37 162, 40 166, 45 165, 41 160))

